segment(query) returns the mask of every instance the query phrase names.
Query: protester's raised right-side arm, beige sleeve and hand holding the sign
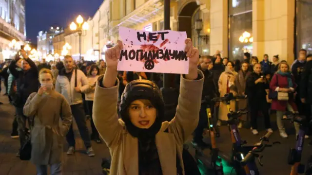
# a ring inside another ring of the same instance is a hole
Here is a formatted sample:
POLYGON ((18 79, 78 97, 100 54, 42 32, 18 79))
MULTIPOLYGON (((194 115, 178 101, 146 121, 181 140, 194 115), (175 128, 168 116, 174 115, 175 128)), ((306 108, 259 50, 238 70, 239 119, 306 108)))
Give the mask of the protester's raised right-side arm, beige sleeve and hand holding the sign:
POLYGON ((197 70, 198 50, 191 39, 186 39, 186 52, 190 59, 189 74, 182 76, 176 116, 170 122, 170 129, 179 144, 183 144, 193 133, 199 117, 204 74, 197 70))

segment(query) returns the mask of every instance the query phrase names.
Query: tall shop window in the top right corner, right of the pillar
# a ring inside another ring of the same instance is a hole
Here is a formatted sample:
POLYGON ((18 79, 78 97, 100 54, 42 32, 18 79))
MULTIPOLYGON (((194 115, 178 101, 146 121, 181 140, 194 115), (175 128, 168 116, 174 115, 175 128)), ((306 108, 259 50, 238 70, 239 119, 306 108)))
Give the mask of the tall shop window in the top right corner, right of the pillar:
POLYGON ((312 53, 312 0, 296 0, 296 49, 312 53))

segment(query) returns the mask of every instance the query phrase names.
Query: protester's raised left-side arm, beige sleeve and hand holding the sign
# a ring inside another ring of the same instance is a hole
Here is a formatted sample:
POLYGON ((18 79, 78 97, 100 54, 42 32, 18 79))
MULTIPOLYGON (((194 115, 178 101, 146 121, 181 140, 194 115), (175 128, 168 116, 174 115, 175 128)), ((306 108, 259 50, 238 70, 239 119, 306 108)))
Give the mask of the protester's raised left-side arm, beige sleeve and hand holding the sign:
POLYGON ((118 122, 117 95, 119 81, 117 79, 117 63, 122 49, 121 41, 117 46, 105 53, 107 69, 104 76, 98 78, 93 103, 93 121, 99 135, 108 147, 114 147, 122 137, 123 126, 118 122))

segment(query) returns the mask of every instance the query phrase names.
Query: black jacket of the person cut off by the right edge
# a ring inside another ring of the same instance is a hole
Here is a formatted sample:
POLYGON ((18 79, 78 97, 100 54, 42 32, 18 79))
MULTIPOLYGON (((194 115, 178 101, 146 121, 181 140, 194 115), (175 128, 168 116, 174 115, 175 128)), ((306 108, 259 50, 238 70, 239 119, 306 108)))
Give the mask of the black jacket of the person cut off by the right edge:
POLYGON ((312 61, 307 62, 301 74, 300 98, 305 98, 307 103, 312 104, 312 61))

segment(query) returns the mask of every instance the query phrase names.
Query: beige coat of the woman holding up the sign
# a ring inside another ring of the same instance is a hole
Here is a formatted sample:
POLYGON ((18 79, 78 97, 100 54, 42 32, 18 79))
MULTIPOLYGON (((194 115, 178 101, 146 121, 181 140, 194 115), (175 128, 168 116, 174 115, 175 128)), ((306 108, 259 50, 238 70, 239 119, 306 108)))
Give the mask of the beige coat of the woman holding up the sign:
MULTIPOLYGON (((180 96, 176 117, 163 122, 156 134, 156 147, 163 175, 176 175, 176 154, 182 160, 183 143, 191 136, 198 124, 204 75, 200 80, 186 80, 181 76, 180 96), (166 128, 169 133, 164 132, 166 128)), ((103 76, 99 77, 101 81, 103 76)), ((93 120, 100 136, 105 140, 112 156, 110 175, 138 175, 138 140, 131 136, 117 116, 117 86, 96 87, 93 120)), ((184 171, 183 171, 184 172, 184 171)), ((184 173, 183 173, 184 174, 184 173)))

